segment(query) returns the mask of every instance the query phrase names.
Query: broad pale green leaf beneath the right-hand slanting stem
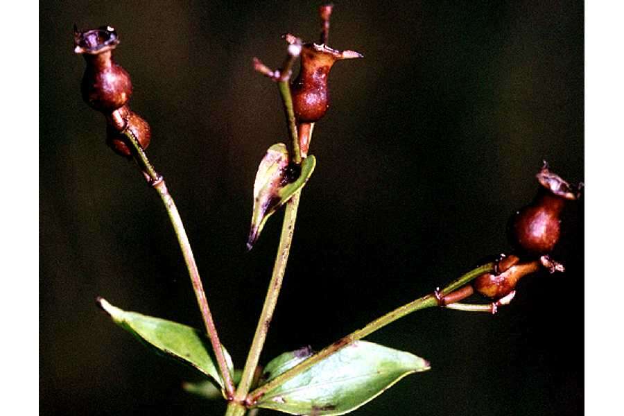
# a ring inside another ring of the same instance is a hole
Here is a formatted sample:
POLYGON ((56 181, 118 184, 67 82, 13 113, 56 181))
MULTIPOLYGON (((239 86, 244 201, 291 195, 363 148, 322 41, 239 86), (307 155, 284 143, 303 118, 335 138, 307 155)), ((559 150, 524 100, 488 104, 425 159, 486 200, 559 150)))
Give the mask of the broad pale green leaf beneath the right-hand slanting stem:
MULTIPOLYGON (((294 367, 305 359, 295 353, 281 354, 266 369, 284 372, 294 367)), ((356 341, 269 390, 254 406, 291 415, 343 415, 381 395, 404 376, 429 368, 426 360, 408 352, 356 341)), ((279 372, 270 374, 268 379, 277 375, 279 372)))

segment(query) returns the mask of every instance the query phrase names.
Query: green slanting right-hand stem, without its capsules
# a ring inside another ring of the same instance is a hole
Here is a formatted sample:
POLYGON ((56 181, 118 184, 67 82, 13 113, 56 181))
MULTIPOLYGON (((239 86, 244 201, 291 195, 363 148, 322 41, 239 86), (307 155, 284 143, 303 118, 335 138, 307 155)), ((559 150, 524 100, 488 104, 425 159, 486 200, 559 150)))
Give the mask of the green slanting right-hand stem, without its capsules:
MULTIPOLYGON (((456 281, 453 281, 451 284, 449 284, 449 286, 442 289, 442 291, 440 291, 438 295, 444 296, 444 294, 451 293, 456 288, 464 286, 469 281, 476 279, 476 277, 480 275, 483 275, 483 273, 492 272, 493 270, 494 263, 487 263, 483 266, 479 266, 478 268, 474 268, 473 270, 467 272, 465 275, 462 275, 462 277, 460 277, 456 281)), ((343 349, 354 341, 360 340, 365 336, 370 335, 374 331, 385 327, 385 325, 390 324, 391 322, 395 322, 395 320, 402 318, 409 313, 418 311, 420 309, 431 308, 432 306, 439 306, 439 302, 440 300, 438 299, 438 297, 436 297, 436 294, 431 293, 429 295, 420 297, 419 299, 414 300, 408 304, 404 304, 403 306, 400 306, 390 313, 386 313, 381 318, 377 318, 376 320, 370 322, 362 329, 358 329, 357 331, 349 333, 349 335, 340 338, 340 340, 329 345, 328 347, 325 347, 320 352, 295 365, 295 367, 292 367, 290 370, 279 374, 279 376, 275 377, 275 379, 272 379, 268 383, 261 385, 259 388, 250 393, 247 401, 251 405, 255 404, 258 399, 260 399, 266 392, 286 383, 286 381, 292 379, 298 374, 301 374, 305 370, 308 370, 319 361, 322 361, 324 360, 324 358, 331 356, 331 354, 335 354, 336 352, 340 351, 340 349, 343 349)))

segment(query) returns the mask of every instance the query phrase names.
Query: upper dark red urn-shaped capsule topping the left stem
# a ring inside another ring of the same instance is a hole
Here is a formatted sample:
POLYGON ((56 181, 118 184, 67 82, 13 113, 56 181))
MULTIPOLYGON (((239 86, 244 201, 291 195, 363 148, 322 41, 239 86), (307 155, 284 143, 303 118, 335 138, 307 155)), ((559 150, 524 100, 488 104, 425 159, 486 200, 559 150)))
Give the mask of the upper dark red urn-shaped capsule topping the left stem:
POLYGON ((87 62, 80 85, 83 100, 104 113, 128 103, 132 82, 128 72, 112 58, 112 51, 119 44, 114 28, 103 26, 83 32, 74 29, 74 44, 74 52, 82 54, 87 62))

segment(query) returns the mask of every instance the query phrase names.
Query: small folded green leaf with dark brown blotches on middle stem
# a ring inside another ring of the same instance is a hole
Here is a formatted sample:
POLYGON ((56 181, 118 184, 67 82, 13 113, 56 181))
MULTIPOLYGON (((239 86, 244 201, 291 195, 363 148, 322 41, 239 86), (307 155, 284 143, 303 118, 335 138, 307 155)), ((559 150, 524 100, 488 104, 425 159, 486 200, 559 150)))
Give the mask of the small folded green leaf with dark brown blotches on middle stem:
POLYGON ((249 250, 258 241, 266 220, 304 187, 315 166, 314 156, 303 159, 301 165, 289 163, 288 150, 283 143, 274 144, 266 151, 254 182, 254 209, 247 240, 249 250))

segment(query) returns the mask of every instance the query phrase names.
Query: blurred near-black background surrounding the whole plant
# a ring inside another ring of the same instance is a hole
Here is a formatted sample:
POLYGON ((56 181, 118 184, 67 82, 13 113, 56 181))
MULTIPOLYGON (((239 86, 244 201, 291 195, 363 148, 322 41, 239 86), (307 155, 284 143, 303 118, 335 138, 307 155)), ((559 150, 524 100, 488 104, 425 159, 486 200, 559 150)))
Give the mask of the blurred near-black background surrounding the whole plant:
MULTIPOLYGON (((80 99, 72 27, 111 24, 152 126, 148 155, 177 202, 223 343, 241 366, 281 213, 245 252, 252 184, 286 140, 279 35, 318 40, 318 2, 40 3, 40 412, 220 415, 190 370, 96 309, 201 327, 166 213, 104 144, 80 99)), ((332 105, 315 129, 284 288, 262 362, 340 336, 509 250, 508 216, 542 159, 583 179, 581 1, 336 1, 332 105)), ((431 361, 355 415, 575 415, 583 406, 583 202, 564 214, 563 275, 532 275, 498 315, 419 311, 367 338, 431 361)), ((476 299, 476 301, 480 301, 476 299)), ((261 410, 261 414, 272 414, 261 410)))

